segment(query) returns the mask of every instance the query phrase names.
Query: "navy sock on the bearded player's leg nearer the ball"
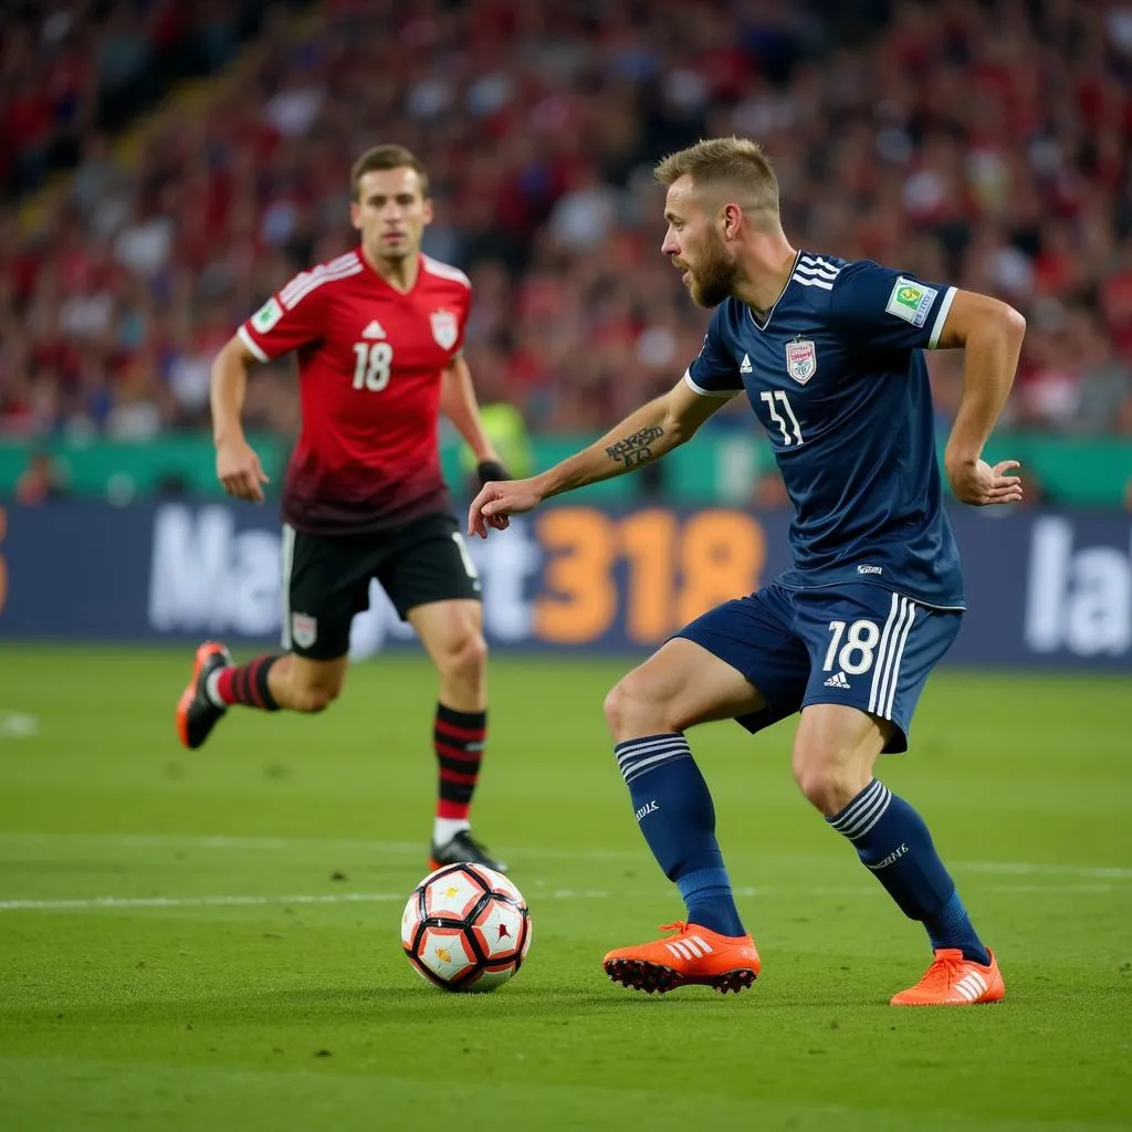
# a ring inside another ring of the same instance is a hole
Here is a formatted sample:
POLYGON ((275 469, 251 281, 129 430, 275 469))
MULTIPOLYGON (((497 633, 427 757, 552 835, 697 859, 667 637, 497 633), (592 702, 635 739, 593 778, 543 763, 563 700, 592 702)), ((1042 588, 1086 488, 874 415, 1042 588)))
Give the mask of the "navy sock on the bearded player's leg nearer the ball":
POLYGON ((721 935, 746 935, 715 840, 715 807, 683 735, 649 735, 615 748, 637 824, 664 875, 675 881, 688 921, 721 935))

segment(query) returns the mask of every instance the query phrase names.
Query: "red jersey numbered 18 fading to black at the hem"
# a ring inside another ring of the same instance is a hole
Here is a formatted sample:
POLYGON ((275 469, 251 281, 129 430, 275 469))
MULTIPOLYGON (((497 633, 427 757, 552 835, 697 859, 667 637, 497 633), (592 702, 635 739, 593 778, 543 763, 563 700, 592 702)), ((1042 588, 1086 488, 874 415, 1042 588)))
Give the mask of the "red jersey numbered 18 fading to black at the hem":
POLYGON ((260 361, 299 355, 288 523, 346 534, 448 509, 440 375, 463 345, 471 294, 463 272, 423 255, 402 294, 355 248, 300 273, 243 323, 240 340, 260 361))

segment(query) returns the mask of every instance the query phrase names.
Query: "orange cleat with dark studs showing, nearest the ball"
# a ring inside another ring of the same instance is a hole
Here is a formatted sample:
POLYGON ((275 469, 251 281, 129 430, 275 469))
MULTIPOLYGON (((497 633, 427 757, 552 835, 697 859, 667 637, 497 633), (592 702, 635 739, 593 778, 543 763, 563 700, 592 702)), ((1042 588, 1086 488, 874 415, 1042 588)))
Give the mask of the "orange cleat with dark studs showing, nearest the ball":
POLYGON ((662 924, 660 931, 676 935, 609 952, 602 961, 606 974, 621 986, 649 994, 683 986, 738 993, 758 977, 758 952, 749 935, 720 935, 684 920, 662 924))

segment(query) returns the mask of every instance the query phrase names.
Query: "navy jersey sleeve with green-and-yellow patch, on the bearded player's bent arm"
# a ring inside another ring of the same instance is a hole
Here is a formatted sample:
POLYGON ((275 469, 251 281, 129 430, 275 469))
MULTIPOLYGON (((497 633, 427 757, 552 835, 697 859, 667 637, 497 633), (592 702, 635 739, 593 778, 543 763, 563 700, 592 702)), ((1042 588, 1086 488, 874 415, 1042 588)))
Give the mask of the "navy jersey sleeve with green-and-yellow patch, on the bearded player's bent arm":
POLYGON ((830 318, 842 337, 889 350, 934 350, 955 289, 925 283, 871 259, 841 268, 830 292, 830 318))

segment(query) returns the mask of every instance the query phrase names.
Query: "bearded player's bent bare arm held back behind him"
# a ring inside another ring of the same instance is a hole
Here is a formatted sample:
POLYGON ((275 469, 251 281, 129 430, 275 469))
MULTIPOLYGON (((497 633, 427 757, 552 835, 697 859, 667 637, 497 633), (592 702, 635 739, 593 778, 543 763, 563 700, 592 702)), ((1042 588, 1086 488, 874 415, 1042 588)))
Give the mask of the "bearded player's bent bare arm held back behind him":
POLYGON ((1010 474, 1017 460, 993 468, 983 448, 1014 383, 1026 319, 1004 302, 971 291, 957 291, 940 348, 962 346, 963 394, 944 451, 944 469, 955 498, 975 507, 1018 503, 1022 481, 1010 474))

